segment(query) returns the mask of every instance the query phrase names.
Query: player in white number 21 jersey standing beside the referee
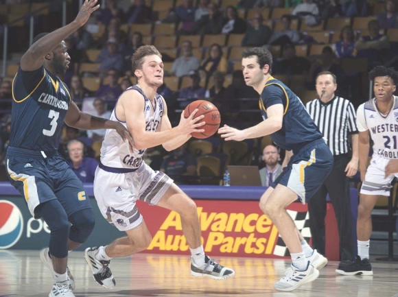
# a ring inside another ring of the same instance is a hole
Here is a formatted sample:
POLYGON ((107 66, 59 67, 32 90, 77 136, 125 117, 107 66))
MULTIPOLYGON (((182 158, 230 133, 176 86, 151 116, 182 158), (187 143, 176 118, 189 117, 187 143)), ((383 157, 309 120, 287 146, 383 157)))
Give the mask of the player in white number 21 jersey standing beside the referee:
POLYGON ((369 239, 372 233, 371 213, 379 195, 389 196, 390 185, 398 174, 386 172, 390 160, 398 159, 398 72, 393 68, 375 67, 369 78, 373 80, 375 98, 361 104, 357 112, 360 131, 359 156, 362 187, 358 206, 358 256, 355 262, 336 270, 344 275, 373 275, 369 263, 369 239), (368 164, 369 132, 373 141, 373 155, 368 164))

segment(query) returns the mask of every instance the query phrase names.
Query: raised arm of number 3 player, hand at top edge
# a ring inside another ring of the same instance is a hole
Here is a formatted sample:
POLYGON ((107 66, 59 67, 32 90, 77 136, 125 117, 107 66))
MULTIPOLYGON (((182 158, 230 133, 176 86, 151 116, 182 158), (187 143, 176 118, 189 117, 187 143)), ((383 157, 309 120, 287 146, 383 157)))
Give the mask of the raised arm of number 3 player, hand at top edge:
POLYGON ((47 34, 31 45, 21 58, 21 69, 23 71, 39 69, 43 65, 45 56, 53 51, 67 36, 82 27, 89 20, 90 15, 100 8, 100 5, 96 4, 97 0, 84 1, 73 22, 47 34))

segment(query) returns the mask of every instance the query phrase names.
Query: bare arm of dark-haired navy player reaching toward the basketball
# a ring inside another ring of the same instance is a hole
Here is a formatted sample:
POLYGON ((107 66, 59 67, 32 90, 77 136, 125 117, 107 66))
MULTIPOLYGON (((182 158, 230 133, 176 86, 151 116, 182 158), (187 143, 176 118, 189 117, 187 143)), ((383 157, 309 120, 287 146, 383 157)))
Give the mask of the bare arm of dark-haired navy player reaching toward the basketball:
POLYGON ((224 125, 224 127, 218 129, 218 133, 226 141, 235 140, 242 141, 244 139, 251 139, 266 136, 277 132, 282 128, 283 122, 283 105, 274 104, 267 109, 267 119, 261 121, 256 126, 237 130, 229 126, 224 125))

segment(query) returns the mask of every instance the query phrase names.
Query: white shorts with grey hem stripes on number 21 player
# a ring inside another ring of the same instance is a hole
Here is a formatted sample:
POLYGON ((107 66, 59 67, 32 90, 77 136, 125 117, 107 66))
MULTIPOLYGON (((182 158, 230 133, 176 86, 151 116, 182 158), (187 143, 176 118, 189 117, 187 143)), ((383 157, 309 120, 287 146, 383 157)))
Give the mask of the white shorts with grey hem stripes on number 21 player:
POLYGON ((361 194, 365 195, 390 195, 391 181, 398 174, 391 174, 385 178, 386 166, 390 159, 373 154, 371 164, 366 169, 365 180, 362 182, 361 194))

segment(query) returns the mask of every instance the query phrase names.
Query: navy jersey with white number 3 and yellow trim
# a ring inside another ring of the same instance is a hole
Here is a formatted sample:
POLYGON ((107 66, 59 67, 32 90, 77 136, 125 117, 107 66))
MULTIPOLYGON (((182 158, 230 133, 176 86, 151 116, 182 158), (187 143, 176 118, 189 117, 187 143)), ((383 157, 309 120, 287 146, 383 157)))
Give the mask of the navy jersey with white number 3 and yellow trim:
POLYGON ((71 96, 67 86, 42 66, 19 67, 12 82, 10 146, 25 150, 58 150, 62 123, 71 96))

